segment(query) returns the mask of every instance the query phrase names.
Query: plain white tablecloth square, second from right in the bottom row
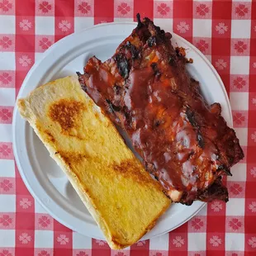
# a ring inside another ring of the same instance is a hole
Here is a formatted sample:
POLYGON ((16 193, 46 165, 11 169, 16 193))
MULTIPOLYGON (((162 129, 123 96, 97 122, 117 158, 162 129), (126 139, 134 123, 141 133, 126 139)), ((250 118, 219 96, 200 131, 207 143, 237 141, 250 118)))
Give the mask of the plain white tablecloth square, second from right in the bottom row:
POLYGON ((187 233, 188 251, 205 251, 206 250, 206 233, 187 233))

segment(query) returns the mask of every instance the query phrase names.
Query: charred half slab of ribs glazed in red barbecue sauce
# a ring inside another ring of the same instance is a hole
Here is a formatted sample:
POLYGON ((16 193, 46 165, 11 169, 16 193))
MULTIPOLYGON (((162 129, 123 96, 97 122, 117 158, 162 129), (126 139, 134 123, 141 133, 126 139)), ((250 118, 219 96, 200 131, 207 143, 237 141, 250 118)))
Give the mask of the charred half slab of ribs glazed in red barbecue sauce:
POLYGON ((148 18, 102 63, 88 60, 79 82, 111 120, 126 130, 147 170, 173 201, 228 201, 221 183, 243 159, 235 131, 209 106, 186 72, 183 49, 148 18))

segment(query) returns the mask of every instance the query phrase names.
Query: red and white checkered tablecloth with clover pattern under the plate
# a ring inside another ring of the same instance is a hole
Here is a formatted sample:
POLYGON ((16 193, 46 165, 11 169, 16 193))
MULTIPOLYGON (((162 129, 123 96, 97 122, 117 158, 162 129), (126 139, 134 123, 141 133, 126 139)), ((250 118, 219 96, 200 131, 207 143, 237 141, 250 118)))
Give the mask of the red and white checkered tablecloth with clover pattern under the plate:
POLYGON ((0 0, 0 256, 256 255, 256 1, 0 0), (229 92, 245 158, 226 185, 230 201, 209 203, 186 224, 129 249, 60 225, 31 197, 12 153, 12 111, 26 73, 60 38, 100 22, 153 18, 200 49, 229 92))

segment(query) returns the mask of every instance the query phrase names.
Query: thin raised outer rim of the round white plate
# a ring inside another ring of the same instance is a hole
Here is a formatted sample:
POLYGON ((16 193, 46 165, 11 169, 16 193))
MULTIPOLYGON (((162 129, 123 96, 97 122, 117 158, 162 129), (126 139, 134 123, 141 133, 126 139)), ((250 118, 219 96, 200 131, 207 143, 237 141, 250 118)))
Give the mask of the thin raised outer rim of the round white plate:
MULTIPOLYGON (((69 36, 65 36, 64 38, 62 38, 61 40, 56 42, 54 45, 51 45, 49 49, 45 50, 45 52, 40 56, 40 59, 37 59, 36 63, 33 64, 31 69, 29 70, 29 72, 26 74, 26 78, 24 79, 24 81, 21 84, 21 88, 20 88, 20 90, 19 90, 19 92, 17 94, 17 99, 21 95, 21 92, 22 92, 21 89, 25 88, 25 84, 27 83, 27 81, 31 77, 31 73, 34 72, 34 70, 40 65, 41 61, 43 59, 45 59, 45 57, 49 54, 49 52, 51 50, 53 50, 55 47, 58 47, 59 43, 63 43, 64 40, 67 40, 67 38, 72 37, 73 35, 78 35, 80 33, 83 33, 84 31, 90 31, 93 28, 98 27, 98 26, 116 26, 116 25, 119 25, 119 26, 120 25, 123 25, 123 26, 126 26, 126 25, 136 26, 136 24, 137 23, 133 22, 133 21, 122 21, 122 22, 110 22, 110 23, 104 23, 104 24, 97 24, 95 26, 91 26, 91 27, 88 27, 86 29, 83 29, 83 30, 80 30, 80 31, 76 31, 76 32, 74 32, 73 34, 71 34, 69 36)), ((179 40, 182 40, 183 42, 188 44, 190 46, 191 50, 196 51, 197 54, 200 56, 200 58, 203 59, 204 62, 208 65, 208 67, 211 69, 212 73, 214 73, 214 75, 216 76, 216 79, 218 80, 218 82, 219 82, 219 84, 221 86, 221 90, 222 90, 222 92, 223 92, 223 94, 225 96, 225 101, 228 103, 227 107, 228 107, 228 112, 229 112, 229 117, 230 117, 230 126, 233 126, 233 118, 232 118, 232 115, 231 115, 231 107, 230 107, 229 97, 227 95, 224 83, 222 82, 219 73, 217 73, 216 69, 213 67, 211 62, 208 59, 206 59, 206 56, 203 55, 201 53, 201 51, 197 49, 197 47, 192 45, 189 41, 185 40, 183 37, 178 36, 173 31, 171 31, 171 34, 174 35, 175 37, 177 37, 179 40)), ((19 161, 19 156, 18 156, 18 150, 17 150, 17 144, 16 144, 17 135, 16 135, 16 130, 15 130, 15 123, 16 123, 16 120, 17 120, 17 115, 18 115, 18 111, 17 111, 17 101, 16 101, 15 102, 15 107, 14 107, 14 110, 13 110, 13 116, 12 116, 12 142, 13 142, 12 148, 13 148, 13 154, 14 154, 14 157, 15 157, 15 160, 16 160, 17 168, 19 170, 19 173, 21 174, 22 181, 26 184, 26 187, 27 187, 28 191, 31 193, 31 195, 36 199, 37 202, 39 202, 40 206, 42 206, 45 209, 45 211, 47 211, 50 214, 50 216, 53 216, 55 218, 55 220, 58 220, 61 224, 67 226, 69 229, 77 231, 79 234, 81 234, 81 232, 79 232, 78 230, 74 229, 73 226, 70 226, 65 221, 63 221, 58 216, 56 216, 55 213, 50 211, 49 207, 47 207, 45 205, 45 203, 42 200, 40 200, 40 198, 38 196, 36 196, 36 192, 34 192, 34 190, 32 189, 31 185, 29 184, 28 179, 26 178, 26 175, 25 175, 25 173, 23 172, 23 170, 21 168, 21 163, 19 161)), ((157 235, 152 235, 150 237, 143 237, 140 240, 152 239, 152 238, 154 238, 156 236, 164 235, 164 234, 170 232, 171 230, 177 229, 179 226, 181 226, 184 223, 186 223, 187 220, 190 220, 193 216, 197 215, 198 211, 201 211, 201 209, 204 206, 206 206, 206 202, 201 202, 201 206, 198 207, 197 211, 194 211, 194 213, 191 216, 188 216, 185 220, 183 220, 183 222, 179 223, 175 227, 173 227, 171 229, 164 230, 163 232, 159 232, 157 235)), ((87 225, 91 225, 91 224, 87 223, 87 225)), ((83 235, 85 235, 85 234, 83 234, 83 235)), ((102 238, 98 238, 97 236, 94 236, 94 235, 90 235, 89 237, 96 238, 96 239, 102 239, 102 238)))

